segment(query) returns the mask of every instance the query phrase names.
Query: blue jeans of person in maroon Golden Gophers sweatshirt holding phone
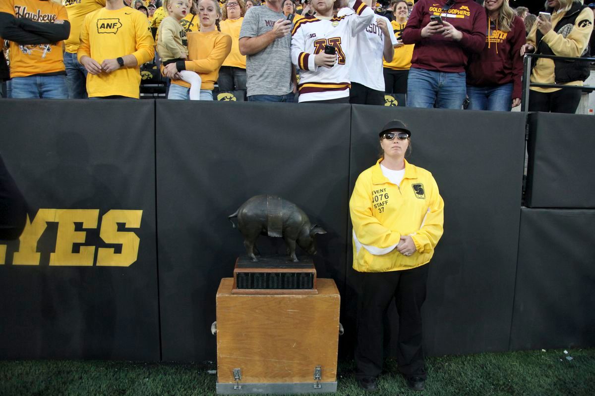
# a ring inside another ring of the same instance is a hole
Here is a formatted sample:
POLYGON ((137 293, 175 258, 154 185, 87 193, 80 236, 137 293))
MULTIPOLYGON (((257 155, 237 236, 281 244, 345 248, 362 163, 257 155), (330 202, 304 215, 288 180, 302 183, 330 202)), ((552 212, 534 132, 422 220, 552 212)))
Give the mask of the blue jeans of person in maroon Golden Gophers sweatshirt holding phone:
POLYGON ((466 97, 465 72, 409 69, 407 107, 461 109, 466 97))

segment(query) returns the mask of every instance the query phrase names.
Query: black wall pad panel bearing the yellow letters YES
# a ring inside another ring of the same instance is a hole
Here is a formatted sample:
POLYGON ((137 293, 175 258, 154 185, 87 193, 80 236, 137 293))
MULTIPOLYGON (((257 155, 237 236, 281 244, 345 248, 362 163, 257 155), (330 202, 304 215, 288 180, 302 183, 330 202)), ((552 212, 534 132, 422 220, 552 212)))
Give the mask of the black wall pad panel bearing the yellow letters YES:
POLYGON ((32 221, 0 241, 2 358, 159 360, 154 106, 0 101, 32 221))

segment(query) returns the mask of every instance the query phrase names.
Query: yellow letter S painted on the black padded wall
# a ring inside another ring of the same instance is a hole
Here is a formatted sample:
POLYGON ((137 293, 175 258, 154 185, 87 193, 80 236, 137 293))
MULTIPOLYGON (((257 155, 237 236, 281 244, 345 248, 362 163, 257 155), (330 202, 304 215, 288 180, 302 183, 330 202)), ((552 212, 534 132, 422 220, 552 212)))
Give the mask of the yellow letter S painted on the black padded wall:
POLYGON ((99 236, 105 243, 119 243, 122 252, 116 254, 114 248, 99 248, 97 265, 112 267, 129 267, 139 255, 140 238, 133 232, 118 232, 118 224, 126 224, 126 228, 139 228, 142 210, 115 210, 104 214, 101 219, 99 236))

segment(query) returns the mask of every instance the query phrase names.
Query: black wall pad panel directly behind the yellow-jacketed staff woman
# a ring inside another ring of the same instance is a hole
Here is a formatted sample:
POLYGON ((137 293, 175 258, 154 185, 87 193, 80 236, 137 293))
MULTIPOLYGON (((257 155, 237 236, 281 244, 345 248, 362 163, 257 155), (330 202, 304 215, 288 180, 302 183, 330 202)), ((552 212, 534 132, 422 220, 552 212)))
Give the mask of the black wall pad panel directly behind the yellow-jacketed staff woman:
MULTIPOLYGON (((444 235, 428 264, 423 309, 427 353, 507 350, 525 116, 352 106, 350 192, 359 173, 378 159, 378 131, 391 119, 400 119, 411 129, 409 161, 433 173, 444 199, 444 235)), ((350 268, 351 246, 348 251, 346 312, 355 315, 358 285, 350 268)), ((390 312, 393 330, 395 311, 390 312)))

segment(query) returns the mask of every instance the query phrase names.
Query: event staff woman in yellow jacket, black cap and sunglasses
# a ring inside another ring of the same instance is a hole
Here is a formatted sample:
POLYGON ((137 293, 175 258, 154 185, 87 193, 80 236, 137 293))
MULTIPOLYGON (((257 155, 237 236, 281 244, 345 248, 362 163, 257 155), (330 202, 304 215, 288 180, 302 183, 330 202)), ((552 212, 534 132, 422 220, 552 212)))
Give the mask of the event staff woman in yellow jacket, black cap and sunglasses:
POLYGON ((436 180, 408 163, 411 131, 391 121, 380 132, 383 156, 364 170, 349 201, 353 268, 358 271, 358 385, 374 391, 383 365, 383 316, 393 296, 399 312, 399 371, 410 388, 424 389, 421 306, 427 264, 443 233, 444 202, 436 180))

